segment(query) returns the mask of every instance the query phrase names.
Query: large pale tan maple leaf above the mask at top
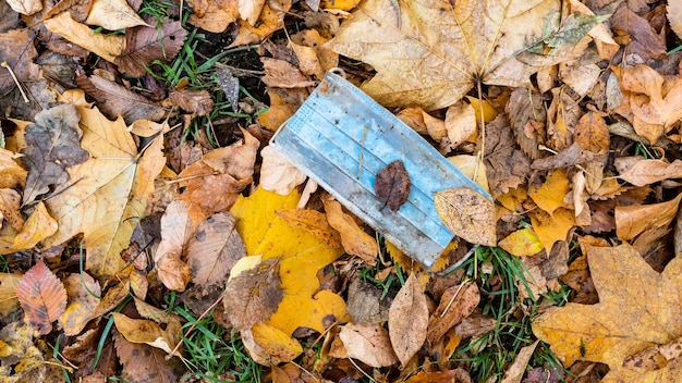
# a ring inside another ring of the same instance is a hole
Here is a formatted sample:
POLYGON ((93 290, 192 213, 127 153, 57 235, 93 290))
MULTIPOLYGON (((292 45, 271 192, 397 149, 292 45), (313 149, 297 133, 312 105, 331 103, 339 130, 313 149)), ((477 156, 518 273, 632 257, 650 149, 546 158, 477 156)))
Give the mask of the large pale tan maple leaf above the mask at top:
POLYGON ((520 52, 545 45, 560 48, 561 53, 541 57, 544 65, 553 64, 580 54, 580 49, 571 50, 590 29, 569 34, 569 26, 561 25, 560 35, 556 17, 560 2, 555 0, 471 0, 454 7, 430 0, 400 5, 398 21, 387 11, 394 9, 391 0, 363 3, 330 41, 337 52, 377 70, 363 89, 390 107, 448 107, 472 88, 475 78, 523 86, 537 69, 520 61, 520 52), (561 40, 569 35, 572 41, 561 40))

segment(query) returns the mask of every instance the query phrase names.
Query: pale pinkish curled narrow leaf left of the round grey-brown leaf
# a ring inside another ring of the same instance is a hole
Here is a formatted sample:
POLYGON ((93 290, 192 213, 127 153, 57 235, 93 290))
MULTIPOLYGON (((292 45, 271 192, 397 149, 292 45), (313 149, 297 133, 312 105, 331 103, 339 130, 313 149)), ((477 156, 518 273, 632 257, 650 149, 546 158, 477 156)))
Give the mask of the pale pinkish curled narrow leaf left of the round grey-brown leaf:
POLYGON ((181 200, 172 201, 161 217, 161 242, 153 257, 157 275, 169 289, 183 292, 192 280, 183 252, 196 224, 181 200))

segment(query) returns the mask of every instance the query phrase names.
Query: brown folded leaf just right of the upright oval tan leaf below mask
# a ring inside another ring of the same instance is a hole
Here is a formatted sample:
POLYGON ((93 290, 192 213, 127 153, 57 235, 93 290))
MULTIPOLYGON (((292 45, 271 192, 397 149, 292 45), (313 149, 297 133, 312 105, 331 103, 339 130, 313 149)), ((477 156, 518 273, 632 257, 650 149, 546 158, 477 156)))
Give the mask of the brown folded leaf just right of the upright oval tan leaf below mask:
POLYGON ((428 343, 437 344, 450 329, 474 312, 479 300, 480 295, 475 283, 448 288, 440 298, 438 309, 428 321, 428 343))

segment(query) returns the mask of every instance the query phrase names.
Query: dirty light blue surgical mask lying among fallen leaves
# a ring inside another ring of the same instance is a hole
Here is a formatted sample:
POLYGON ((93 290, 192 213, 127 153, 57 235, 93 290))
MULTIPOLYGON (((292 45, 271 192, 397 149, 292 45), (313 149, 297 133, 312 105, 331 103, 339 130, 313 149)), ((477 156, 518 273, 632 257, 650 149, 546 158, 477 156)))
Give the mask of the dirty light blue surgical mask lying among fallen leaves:
POLYGON ((490 196, 369 96, 330 71, 271 144, 411 258, 430 268, 453 234, 438 218, 434 193, 468 187, 490 196), (375 194, 377 173, 400 160, 407 201, 392 211, 375 194))

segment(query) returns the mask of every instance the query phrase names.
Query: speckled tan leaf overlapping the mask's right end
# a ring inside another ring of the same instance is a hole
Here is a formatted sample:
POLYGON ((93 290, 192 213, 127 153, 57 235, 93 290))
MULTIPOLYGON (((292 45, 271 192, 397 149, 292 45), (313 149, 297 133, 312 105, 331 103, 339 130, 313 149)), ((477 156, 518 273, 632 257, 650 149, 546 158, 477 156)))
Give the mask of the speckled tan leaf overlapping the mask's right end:
POLYGON ((440 220, 456 236, 472 243, 495 246, 495 206, 478 192, 455 187, 436 192, 434 203, 440 220))

